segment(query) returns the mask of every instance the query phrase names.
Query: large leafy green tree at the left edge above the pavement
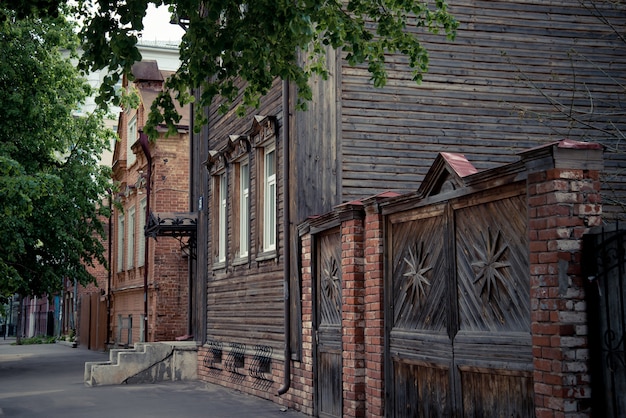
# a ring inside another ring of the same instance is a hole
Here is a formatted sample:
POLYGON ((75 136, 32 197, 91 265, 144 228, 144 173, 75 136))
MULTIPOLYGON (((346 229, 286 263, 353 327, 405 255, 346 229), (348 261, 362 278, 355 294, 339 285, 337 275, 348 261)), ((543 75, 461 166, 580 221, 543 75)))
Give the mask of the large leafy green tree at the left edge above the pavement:
POLYGON ((0 15, 0 294, 43 295, 63 278, 92 282, 105 264, 100 201, 110 169, 98 157, 113 132, 102 111, 77 116, 91 94, 72 57, 75 27, 57 17, 0 15))

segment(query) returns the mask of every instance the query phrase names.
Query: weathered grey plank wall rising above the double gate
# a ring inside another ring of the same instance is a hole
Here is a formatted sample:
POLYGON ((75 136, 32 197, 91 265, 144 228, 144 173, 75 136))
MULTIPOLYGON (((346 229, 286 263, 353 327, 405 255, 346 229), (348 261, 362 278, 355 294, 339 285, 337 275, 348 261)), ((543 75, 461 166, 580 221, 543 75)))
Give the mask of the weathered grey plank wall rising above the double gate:
MULTIPOLYGON (((564 0, 449 3, 460 22, 457 38, 424 37, 430 70, 422 85, 397 56, 387 60, 383 89, 373 87, 364 68, 344 66, 343 201, 417 189, 439 151, 463 153, 486 169, 564 138, 616 145, 615 131, 603 132, 612 128, 602 114, 623 102, 618 83, 625 81, 626 45, 607 24, 564 0), (559 110, 572 105, 574 123, 559 110)), ((623 13, 606 15, 624 28, 623 13)), ((612 148, 607 175, 626 164, 612 148)), ((624 199, 623 176, 615 180, 624 199)))

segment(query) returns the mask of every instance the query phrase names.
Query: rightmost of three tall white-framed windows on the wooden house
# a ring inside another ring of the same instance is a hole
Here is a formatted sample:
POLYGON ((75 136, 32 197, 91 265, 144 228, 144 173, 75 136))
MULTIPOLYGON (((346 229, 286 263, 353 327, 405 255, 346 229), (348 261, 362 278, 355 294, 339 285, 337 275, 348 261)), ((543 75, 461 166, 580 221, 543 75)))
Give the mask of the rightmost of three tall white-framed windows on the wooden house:
POLYGON ((263 150, 263 252, 276 249, 276 147, 263 150))

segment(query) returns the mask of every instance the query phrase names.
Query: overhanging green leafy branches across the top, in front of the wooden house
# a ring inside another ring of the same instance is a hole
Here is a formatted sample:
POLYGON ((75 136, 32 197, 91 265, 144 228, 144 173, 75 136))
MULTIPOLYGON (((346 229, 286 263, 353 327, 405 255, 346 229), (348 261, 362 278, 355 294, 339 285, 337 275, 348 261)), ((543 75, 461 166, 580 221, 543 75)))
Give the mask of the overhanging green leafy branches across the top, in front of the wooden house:
MULTIPOLYGON (((181 103, 193 100, 190 89, 199 89, 200 106, 221 96, 223 111, 241 100, 240 114, 257 106, 276 78, 295 83, 299 107, 305 108, 312 96, 308 80, 327 74, 327 47, 342 49, 351 65, 366 63, 375 86, 387 80, 385 54, 404 54, 419 82, 428 68, 420 31, 453 38, 457 28, 444 0, 82 0, 76 12, 85 18, 82 69, 112 71, 101 87, 101 102, 115 98, 115 84, 141 59, 136 43, 149 3, 169 5, 186 28, 182 65, 166 88, 181 103)), ((156 137, 155 126, 165 122, 173 129, 178 120, 165 91, 146 130, 156 137)), ((196 128, 204 123, 197 112, 196 128)))

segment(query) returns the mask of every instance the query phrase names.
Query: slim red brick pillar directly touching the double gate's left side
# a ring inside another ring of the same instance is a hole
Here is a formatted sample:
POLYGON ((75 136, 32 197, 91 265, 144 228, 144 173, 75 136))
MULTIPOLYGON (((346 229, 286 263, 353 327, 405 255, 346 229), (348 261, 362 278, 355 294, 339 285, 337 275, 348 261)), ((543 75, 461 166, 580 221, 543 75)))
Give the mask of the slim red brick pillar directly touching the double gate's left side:
POLYGON ((385 415, 383 218, 376 204, 365 209, 365 385, 367 417, 385 415))

